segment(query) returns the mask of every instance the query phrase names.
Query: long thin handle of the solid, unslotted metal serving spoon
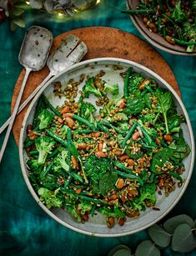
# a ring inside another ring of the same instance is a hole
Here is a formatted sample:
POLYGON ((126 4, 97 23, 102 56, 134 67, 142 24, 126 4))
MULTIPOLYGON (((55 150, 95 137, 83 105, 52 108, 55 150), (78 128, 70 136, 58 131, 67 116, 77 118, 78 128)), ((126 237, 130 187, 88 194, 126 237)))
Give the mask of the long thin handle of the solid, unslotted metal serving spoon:
POLYGON ((27 80, 28 80, 28 75, 30 74, 31 71, 32 71, 32 69, 26 68, 26 73, 24 75, 23 84, 22 84, 21 89, 19 91, 19 95, 18 95, 16 104, 15 104, 14 109, 13 109, 13 115, 12 115, 12 118, 10 120, 10 123, 9 123, 9 126, 8 126, 8 130, 6 132, 6 136, 4 138, 3 145, 2 145, 2 148, 1 148, 1 151, 0 151, 0 163, 2 161, 3 153, 4 153, 4 151, 6 149, 6 146, 7 146, 7 143, 8 143, 10 132, 12 131, 12 128, 13 128, 13 122, 14 122, 15 117, 17 115, 18 107, 19 107, 21 98, 23 96, 23 90, 24 90, 25 85, 26 85, 27 80))

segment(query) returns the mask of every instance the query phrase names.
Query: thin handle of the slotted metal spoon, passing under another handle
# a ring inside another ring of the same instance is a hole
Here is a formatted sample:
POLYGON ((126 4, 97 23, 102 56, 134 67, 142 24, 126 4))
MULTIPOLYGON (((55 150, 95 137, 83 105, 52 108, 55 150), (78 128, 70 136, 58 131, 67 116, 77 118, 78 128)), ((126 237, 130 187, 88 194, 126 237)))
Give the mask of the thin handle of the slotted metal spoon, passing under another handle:
MULTIPOLYGON (((49 79, 51 79, 53 77, 53 75, 54 75, 53 72, 50 72, 48 74, 48 76, 43 80, 43 82, 41 84, 39 84, 38 87, 35 90, 33 90, 33 93, 31 95, 29 95, 26 100, 23 101, 23 104, 20 105, 20 107, 18 109, 17 115, 26 107, 26 105, 28 105, 28 102, 30 100, 32 100, 35 95, 37 95, 38 91, 43 87, 44 84, 46 84, 48 82, 49 79)), ((8 120, 2 125, 2 127, 0 127, 0 134, 3 133, 3 131, 9 125, 12 117, 13 117, 13 115, 11 115, 8 118, 8 120)))

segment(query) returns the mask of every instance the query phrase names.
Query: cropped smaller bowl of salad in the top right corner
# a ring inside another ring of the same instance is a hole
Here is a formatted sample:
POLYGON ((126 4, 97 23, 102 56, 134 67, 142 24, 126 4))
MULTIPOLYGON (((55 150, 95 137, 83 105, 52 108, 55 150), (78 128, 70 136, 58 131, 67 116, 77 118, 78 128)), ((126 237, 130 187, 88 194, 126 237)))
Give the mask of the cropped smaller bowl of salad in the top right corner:
POLYGON ((127 0, 127 10, 150 44, 171 54, 196 55, 196 1, 127 0))

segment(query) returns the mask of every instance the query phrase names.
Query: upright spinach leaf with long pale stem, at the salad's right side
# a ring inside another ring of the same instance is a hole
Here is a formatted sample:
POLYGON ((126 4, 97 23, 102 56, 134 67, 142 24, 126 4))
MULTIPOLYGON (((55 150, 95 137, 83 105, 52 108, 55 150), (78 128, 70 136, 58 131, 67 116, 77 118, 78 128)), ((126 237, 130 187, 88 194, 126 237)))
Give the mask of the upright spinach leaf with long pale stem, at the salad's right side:
POLYGON ((168 133, 167 113, 168 113, 168 110, 172 107, 172 105, 173 105, 173 98, 172 98, 172 94, 170 93, 170 91, 166 91, 164 93, 158 92, 157 111, 163 114, 165 128, 166 128, 167 133, 168 133))

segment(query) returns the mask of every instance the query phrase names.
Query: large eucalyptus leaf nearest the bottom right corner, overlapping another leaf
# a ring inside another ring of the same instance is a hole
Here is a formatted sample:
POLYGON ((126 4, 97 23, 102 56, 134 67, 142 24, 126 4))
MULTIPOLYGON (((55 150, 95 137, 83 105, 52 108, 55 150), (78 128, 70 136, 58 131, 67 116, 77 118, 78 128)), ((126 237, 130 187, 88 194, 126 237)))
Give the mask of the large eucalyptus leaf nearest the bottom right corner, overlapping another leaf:
POLYGON ((188 253, 196 248, 196 238, 187 223, 178 225, 172 238, 172 249, 179 253, 188 253))

